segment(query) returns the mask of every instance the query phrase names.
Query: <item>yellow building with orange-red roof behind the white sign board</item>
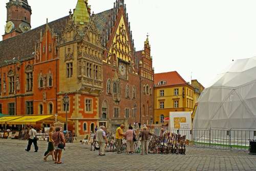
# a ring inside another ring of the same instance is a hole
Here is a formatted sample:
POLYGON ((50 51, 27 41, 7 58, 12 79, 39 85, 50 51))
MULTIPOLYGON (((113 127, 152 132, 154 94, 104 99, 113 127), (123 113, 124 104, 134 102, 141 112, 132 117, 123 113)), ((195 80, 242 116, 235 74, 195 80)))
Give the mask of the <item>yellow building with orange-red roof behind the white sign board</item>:
POLYGON ((155 74, 154 123, 163 124, 169 112, 193 111, 194 88, 177 71, 155 74))

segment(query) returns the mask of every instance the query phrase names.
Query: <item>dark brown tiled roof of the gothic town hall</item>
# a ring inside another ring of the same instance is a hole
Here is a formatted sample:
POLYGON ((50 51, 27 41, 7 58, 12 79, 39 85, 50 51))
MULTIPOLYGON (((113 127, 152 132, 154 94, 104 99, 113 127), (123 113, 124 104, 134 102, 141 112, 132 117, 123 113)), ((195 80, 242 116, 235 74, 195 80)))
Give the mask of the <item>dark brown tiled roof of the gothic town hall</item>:
MULTIPOLYGON (((106 21, 108 21, 111 11, 103 11, 94 16, 94 22, 100 34, 105 27, 106 21)), ((54 29, 54 33, 59 35, 65 29, 68 19, 69 16, 65 16, 49 22, 48 25, 51 29, 54 29)), ((12 60, 13 58, 19 58, 22 61, 33 57, 32 53, 35 51, 35 43, 40 39, 40 32, 44 33, 45 29, 46 25, 42 25, 28 32, 0 41, 0 65, 4 64, 5 60, 12 60)))

